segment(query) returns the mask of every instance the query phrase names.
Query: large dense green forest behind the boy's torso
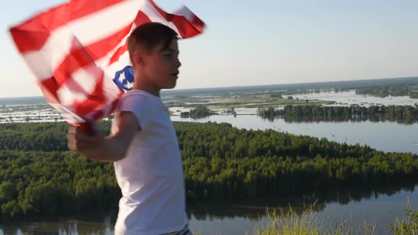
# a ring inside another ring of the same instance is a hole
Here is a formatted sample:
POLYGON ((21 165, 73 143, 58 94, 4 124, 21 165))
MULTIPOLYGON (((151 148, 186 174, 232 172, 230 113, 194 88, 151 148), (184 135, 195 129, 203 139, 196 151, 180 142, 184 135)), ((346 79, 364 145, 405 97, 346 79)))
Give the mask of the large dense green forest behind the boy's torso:
MULTIPOLYGON (((101 127, 108 132, 110 122, 101 127)), ((225 123, 175 122, 174 127, 188 202, 417 182, 414 154, 225 123)), ((67 151, 66 134, 63 122, 0 125, 2 219, 117 209, 113 164, 67 151)))

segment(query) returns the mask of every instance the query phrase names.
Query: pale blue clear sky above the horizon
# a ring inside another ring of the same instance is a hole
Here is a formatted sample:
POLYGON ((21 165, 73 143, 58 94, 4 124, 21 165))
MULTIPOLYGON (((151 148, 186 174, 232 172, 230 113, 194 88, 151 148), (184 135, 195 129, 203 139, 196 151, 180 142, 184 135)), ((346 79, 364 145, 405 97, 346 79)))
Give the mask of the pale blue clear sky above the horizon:
MULTIPOLYGON (((416 0, 154 1, 207 25, 179 42, 176 89, 418 76, 416 0)), ((1 2, 0 97, 42 95, 9 28, 64 2, 1 2)))

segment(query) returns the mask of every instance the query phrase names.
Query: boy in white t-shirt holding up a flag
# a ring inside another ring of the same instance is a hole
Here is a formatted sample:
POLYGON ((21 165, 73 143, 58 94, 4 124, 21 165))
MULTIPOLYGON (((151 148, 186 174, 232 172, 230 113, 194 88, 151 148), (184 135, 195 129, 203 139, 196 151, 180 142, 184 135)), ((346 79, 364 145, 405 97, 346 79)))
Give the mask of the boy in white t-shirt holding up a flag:
POLYGON ((176 132, 159 91, 179 74, 176 32, 160 23, 132 31, 128 50, 135 84, 120 99, 112 132, 91 137, 69 127, 69 149, 113 162, 123 197, 115 234, 191 234, 176 132))

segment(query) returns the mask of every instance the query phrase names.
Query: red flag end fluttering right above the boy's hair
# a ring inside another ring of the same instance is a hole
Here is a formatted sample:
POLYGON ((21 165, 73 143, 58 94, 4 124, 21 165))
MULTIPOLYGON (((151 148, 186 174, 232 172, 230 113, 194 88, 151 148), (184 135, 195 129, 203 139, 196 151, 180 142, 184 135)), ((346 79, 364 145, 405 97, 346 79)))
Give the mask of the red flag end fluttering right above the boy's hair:
POLYGON ((153 0, 149 0, 149 3, 166 19, 176 25, 177 30, 181 35, 181 38, 191 38, 199 33, 203 32, 205 24, 197 16, 193 14, 193 22, 190 22, 184 16, 176 16, 174 14, 166 13, 163 11, 153 0))

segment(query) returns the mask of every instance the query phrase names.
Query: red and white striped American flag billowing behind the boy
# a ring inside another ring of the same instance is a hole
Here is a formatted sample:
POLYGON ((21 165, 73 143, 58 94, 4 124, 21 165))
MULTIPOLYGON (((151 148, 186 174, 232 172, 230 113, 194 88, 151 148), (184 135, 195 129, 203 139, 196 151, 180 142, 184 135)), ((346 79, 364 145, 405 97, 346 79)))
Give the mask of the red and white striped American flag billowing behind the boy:
POLYGON ((147 22, 168 25, 179 38, 205 27, 186 6, 171 14, 152 0, 70 0, 10 33, 48 103, 77 124, 111 115, 132 88, 127 40, 147 22))

